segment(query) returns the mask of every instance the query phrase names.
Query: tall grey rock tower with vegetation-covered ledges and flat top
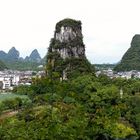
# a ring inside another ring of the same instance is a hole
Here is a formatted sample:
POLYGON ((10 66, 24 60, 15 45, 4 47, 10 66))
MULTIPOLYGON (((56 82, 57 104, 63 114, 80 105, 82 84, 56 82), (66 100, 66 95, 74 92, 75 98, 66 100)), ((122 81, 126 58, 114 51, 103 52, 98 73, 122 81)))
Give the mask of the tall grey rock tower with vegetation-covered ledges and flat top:
POLYGON ((56 24, 54 38, 47 54, 47 74, 57 73, 62 79, 91 72, 85 56, 81 22, 64 19, 56 24))

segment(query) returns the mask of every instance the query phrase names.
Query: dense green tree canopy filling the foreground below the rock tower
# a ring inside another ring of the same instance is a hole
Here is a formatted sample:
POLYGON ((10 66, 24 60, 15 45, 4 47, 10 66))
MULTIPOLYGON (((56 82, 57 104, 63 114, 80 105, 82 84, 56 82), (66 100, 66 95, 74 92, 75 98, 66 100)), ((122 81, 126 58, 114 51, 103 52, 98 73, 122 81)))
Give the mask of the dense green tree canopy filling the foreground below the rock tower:
POLYGON ((139 79, 110 79, 105 75, 84 75, 67 81, 53 78, 34 79, 31 87, 14 90, 16 94, 26 93, 32 107, 3 120, 0 139, 140 138, 139 79))

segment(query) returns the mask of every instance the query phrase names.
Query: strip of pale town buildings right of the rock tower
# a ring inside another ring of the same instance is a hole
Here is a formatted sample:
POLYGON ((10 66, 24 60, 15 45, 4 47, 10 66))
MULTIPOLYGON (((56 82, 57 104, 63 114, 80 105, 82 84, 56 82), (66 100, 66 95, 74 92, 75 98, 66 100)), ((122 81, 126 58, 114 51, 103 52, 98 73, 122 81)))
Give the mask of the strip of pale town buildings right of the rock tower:
POLYGON ((140 78, 140 71, 132 70, 132 71, 126 71, 126 72, 114 72, 112 69, 108 70, 101 70, 96 72, 96 76, 99 76, 100 74, 105 74, 109 76, 110 78, 140 78))

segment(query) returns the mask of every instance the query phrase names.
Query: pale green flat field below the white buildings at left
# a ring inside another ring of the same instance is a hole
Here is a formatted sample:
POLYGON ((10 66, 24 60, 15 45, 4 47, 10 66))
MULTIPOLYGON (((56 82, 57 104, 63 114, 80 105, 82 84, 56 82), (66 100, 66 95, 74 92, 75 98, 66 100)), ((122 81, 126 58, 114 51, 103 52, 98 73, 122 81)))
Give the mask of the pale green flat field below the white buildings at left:
POLYGON ((6 100, 6 99, 14 99, 16 97, 20 97, 20 98, 28 98, 28 96, 26 95, 17 95, 17 94, 13 94, 13 93, 7 93, 7 94, 0 94, 0 102, 3 101, 3 100, 6 100))

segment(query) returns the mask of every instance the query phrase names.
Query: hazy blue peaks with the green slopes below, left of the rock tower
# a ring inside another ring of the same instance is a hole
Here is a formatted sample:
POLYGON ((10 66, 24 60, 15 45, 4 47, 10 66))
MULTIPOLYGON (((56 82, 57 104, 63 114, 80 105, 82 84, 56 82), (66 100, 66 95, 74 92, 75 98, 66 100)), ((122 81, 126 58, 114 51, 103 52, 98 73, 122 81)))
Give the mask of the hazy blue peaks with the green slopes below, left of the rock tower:
POLYGON ((0 51, 0 66, 2 66, 0 70, 6 67, 13 70, 36 70, 43 64, 45 64, 45 57, 41 58, 37 49, 25 58, 20 57, 20 52, 15 47, 12 47, 8 53, 0 51))

